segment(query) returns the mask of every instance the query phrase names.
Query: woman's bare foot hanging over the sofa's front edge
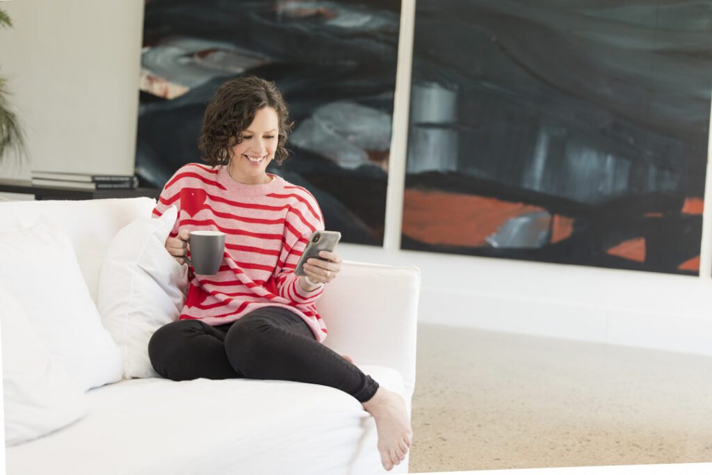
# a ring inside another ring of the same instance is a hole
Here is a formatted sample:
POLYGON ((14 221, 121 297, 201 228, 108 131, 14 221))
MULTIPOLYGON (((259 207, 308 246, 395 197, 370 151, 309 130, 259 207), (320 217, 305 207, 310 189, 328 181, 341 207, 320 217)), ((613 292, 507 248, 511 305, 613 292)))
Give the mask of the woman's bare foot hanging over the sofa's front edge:
POLYGON ((391 470, 405 459, 412 444, 413 431, 405 401, 397 393, 379 387, 363 407, 376 419, 381 464, 384 469, 391 470))

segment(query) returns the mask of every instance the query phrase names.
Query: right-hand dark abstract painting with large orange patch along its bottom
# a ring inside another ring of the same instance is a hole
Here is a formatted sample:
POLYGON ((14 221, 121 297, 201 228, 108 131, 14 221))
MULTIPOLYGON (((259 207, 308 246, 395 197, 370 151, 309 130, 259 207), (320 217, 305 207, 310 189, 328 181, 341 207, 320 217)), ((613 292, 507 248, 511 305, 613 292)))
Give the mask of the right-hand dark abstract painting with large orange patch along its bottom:
POLYGON ((402 247, 696 275, 711 18, 418 0, 402 247))

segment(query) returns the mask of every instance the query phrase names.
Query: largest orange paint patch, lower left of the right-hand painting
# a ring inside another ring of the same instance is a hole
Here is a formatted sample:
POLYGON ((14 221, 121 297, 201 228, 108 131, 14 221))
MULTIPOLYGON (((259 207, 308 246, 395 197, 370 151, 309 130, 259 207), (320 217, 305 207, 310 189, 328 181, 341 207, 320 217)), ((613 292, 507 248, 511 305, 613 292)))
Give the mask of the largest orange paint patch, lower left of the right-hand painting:
POLYGON ((482 246, 508 219, 544 211, 471 194, 406 189, 403 234, 426 244, 482 246))

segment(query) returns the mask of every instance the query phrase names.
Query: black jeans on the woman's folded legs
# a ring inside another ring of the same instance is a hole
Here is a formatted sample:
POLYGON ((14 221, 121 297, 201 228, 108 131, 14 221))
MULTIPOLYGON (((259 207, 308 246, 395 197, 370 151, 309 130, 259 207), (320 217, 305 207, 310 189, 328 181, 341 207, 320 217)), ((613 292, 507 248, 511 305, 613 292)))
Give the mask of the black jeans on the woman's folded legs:
POLYGON ((174 381, 288 380, 335 387, 359 402, 378 383, 319 343, 302 318, 281 307, 254 310, 235 322, 211 326, 199 320, 164 325, 148 343, 155 370, 174 381))

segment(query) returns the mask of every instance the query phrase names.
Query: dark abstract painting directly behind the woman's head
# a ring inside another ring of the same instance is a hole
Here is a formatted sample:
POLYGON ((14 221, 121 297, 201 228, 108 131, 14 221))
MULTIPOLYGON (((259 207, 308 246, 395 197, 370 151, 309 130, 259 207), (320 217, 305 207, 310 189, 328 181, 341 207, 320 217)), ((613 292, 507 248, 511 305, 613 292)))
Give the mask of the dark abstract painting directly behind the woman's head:
POLYGON ((162 187, 200 162, 202 114, 229 78, 258 75, 295 121, 268 172, 306 187, 342 240, 381 244, 400 1, 151 0, 145 5, 137 172, 162 187))

